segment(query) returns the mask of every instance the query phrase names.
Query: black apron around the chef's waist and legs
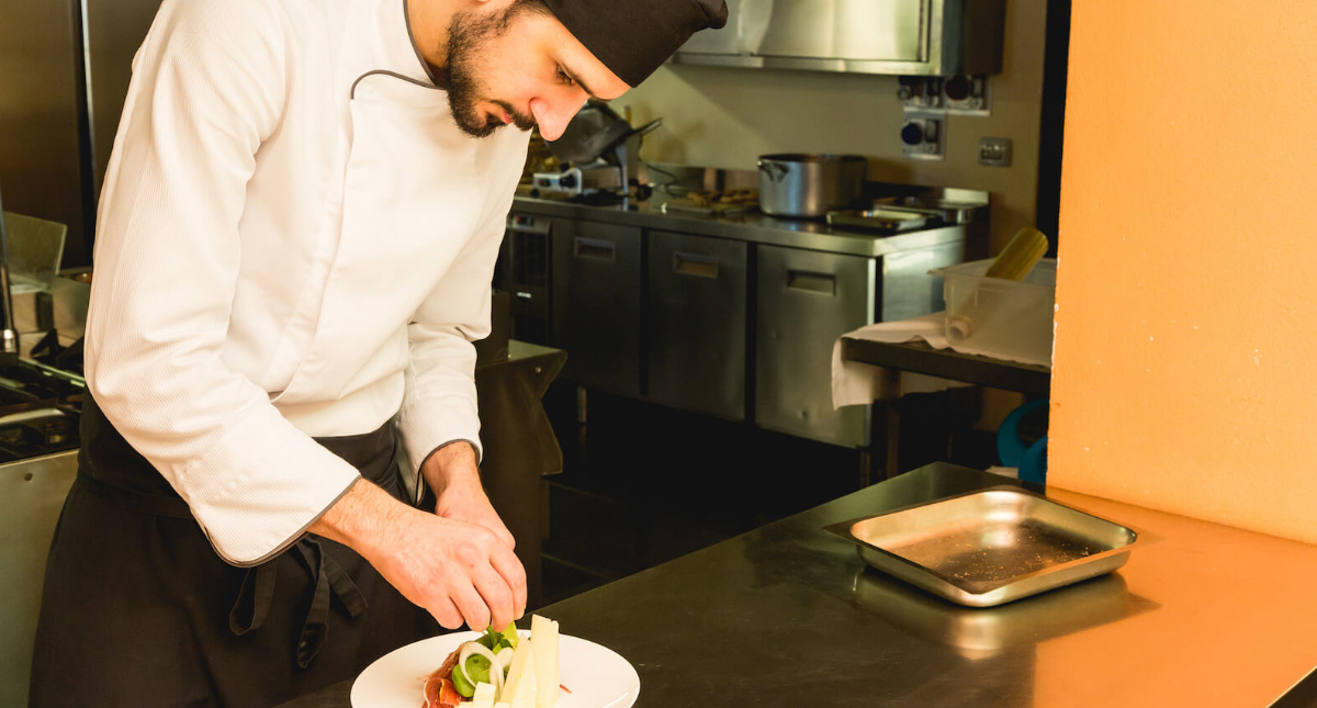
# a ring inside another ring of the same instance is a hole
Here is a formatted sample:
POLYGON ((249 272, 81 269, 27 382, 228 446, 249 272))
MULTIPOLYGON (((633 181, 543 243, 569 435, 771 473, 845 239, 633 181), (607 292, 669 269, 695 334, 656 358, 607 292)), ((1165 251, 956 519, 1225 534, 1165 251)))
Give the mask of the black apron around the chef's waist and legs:
MULTIPOLYGON (((404 500, 395 432, 317 438, 404 500)), ((277 705, 440 633, 352 549, 307 534, 252 569, 96 407, 46 566, 29 705, 277 705)))

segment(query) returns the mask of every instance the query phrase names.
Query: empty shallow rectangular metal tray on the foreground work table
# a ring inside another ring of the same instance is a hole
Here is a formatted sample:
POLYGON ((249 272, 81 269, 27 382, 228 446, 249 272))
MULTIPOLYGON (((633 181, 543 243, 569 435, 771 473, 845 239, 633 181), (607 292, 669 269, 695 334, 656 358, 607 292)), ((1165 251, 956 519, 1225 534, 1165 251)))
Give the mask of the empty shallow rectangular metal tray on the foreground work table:
POLYGON ((1018 487, 989 487, 827 526, 869 566, 968 607, 994 607, 1125 565, 1138 534, 1018 487))

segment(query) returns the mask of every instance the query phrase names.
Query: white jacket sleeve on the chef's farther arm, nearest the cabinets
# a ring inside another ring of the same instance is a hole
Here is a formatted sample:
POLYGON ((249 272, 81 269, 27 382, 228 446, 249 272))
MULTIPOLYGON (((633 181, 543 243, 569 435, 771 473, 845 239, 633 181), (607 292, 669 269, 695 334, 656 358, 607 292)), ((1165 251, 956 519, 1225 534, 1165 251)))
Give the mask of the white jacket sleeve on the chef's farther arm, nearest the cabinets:
POLYGON ((407 328, 411 358, 398 425, 416 472, 417 500, 425 491, 419 468, 439 447, 465 440, 483 457, 471 342, 490 334, 494 263, 525 161, 525 141, 507 142, 519 150, 502 155, 481 225, 407 328))

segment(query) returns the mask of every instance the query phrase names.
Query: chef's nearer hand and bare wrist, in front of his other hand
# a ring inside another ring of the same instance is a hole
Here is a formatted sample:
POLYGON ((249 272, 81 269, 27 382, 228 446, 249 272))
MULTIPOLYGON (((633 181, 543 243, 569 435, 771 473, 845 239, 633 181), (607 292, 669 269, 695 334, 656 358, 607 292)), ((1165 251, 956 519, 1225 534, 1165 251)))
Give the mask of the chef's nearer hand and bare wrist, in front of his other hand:
POLYGON ((504 628, 525 613, 525 569, 494 532, 414 509, 370 482, 309 530, 354 549, 448 629, 504 628))

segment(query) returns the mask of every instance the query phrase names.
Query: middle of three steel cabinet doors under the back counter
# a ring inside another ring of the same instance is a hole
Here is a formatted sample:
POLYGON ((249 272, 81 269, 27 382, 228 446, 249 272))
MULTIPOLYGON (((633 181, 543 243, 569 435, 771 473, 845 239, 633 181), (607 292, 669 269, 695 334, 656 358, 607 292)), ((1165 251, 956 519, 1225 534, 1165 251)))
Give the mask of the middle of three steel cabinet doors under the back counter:
POLYGON ((648 397, 745 418, 748 246, 649 232, 648 397))

